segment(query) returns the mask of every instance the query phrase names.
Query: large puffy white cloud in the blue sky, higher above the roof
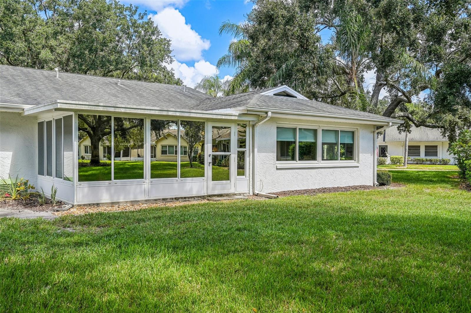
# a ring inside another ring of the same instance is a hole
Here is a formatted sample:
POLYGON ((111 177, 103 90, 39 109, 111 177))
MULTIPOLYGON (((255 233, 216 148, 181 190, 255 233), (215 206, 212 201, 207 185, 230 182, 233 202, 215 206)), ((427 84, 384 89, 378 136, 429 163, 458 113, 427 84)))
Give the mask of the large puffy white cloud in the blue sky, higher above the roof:
POLYGON ((178 61, 201 60, 203 50, 209 49, 211 42, 191 29, 185 16, 175 8, 164 8, 149 17, 159 26, 165 38, 171 40, 172 54, 178 61))

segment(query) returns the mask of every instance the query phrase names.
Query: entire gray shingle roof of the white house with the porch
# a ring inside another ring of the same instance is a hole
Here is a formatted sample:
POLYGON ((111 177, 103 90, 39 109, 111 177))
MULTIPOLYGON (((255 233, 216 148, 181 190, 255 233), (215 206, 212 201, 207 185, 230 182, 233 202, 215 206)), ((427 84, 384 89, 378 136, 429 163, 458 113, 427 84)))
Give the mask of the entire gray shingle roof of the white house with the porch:
POLYGON ((273 108, 313 114, 397 121, 371 113, 292 97, 261 95, 270 89, 212 98, 192 88, 120 80, 84 74, 0 65, 0 103, 39 105, 55 100, 98 102, 116 106, 213 111, 233 107, 273 108))

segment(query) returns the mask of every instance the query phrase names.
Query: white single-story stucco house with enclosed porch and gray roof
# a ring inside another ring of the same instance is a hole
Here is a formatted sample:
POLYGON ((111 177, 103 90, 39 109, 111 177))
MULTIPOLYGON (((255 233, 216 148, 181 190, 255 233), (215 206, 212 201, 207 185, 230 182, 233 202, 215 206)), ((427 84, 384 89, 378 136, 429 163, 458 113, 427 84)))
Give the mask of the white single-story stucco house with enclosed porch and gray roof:
POLYGON ((0 86, 0 176, 54 186, 70 204, 374 185, 377 134, 402 123, 287 86, 211 98, 185 86, 4 65, 0 86), (169 129, 172 141, 158 149, 156 134, 169 129), (127 160, 130 145, 138 152, 127 160), (181 146, 203 153, 158 160, 181 146), (105 162, 114 150, 119 157, 105 162))

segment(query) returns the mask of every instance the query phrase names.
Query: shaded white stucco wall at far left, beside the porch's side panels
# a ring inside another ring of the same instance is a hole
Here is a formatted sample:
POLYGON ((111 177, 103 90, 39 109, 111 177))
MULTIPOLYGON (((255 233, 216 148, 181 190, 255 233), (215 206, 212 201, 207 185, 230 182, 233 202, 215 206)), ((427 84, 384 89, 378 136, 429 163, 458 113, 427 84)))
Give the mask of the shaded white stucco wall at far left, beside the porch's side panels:
POLYGON ((35 117, 0 112, 0 177, 24 177, 36 183, 38 129, 35 117))

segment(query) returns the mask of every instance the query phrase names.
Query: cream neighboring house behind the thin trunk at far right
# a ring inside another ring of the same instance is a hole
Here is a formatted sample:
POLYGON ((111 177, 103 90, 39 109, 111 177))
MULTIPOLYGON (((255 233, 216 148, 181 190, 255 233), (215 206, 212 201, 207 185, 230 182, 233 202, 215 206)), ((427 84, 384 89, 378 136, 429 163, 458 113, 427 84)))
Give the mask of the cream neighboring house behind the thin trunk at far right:
MULTIPOLYGON (((397 127, 388 128, 378 138, 378 157, 404 156, 405 140, 406 133, 399 133, 397 127)), ((454 156, 447 151, 448 140, 439 129, 412 126, 408 146, 407 156, 411 158, 408 163, 414 163, 414 158, 422 157, 450 159, 450 164, 455 164, 454 156)))

